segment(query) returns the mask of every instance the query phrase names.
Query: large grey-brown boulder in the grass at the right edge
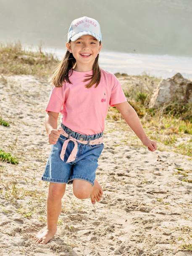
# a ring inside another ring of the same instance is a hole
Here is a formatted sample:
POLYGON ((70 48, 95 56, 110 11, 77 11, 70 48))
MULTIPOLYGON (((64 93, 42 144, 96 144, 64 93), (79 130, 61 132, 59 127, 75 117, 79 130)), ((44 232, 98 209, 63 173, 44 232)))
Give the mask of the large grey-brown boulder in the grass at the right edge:
POLYGON ((157 108, 164 103, 192 103, 192 81, 182 77, 180 73, 174 77, 163 79, 154 90, 149 108, 157 108))

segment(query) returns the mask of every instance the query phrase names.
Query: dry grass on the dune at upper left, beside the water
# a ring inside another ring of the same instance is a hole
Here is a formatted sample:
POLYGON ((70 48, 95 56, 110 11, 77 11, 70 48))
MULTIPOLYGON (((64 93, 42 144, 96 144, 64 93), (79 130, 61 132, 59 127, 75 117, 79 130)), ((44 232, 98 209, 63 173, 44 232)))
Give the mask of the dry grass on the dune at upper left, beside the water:
POLYGON ((20 41, 0 43, 0 74, 50 77, 59 60, 52 53, 42 52, 41 45, 38 48, 37 51, 25 50, 20 41))

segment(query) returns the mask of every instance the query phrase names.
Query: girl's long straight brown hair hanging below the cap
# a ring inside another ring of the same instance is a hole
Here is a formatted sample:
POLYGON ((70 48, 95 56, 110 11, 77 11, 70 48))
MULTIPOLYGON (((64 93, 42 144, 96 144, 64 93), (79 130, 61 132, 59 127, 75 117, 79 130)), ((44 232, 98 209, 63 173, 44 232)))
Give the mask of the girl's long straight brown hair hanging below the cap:
MULTIPOLYGON (((69 41, 71 42, 71 41, 69 41)), ((101 41, 100 41, 101 44, 101 41)), ((88 84, 86 84, 85 87, 90 88, 94 84, 95 88, 100 82, 101 79, 101 70, 98 63, 99 54, 95 58, 95 62, 93 64, 93 74, 92 75, 86 75, 86 78, 83 80, 83 82, 87 82, 91 80, 88 84)), ((62 61, 58 63, 58 65, 55 67, 54 74, 50 77, 49 83, 53 84, 55 87, 62 87, 62 83, 68 82, 69 84, 72 84, 68 77, 68 71, 76 65, 76 59, 74 58, 73 54, 70 53, 68 50, 66 51, 65 56, 63 57, 62 61)), ((73 71, 72 71, 73 72, 73 71)), ((72 74, 72 73, 71 73, 72 74)))

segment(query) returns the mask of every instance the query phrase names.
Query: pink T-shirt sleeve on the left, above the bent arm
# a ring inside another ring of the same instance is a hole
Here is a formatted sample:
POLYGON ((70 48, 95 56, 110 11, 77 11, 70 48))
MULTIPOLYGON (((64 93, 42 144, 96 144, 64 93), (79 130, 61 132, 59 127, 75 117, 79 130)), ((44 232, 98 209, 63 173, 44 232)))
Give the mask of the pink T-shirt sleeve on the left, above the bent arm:
POLYGON ((55 87, 53 85, 45 111, 60 113, 63 108, 63 102, 64 99, 62 99, 62 87, 55 87))

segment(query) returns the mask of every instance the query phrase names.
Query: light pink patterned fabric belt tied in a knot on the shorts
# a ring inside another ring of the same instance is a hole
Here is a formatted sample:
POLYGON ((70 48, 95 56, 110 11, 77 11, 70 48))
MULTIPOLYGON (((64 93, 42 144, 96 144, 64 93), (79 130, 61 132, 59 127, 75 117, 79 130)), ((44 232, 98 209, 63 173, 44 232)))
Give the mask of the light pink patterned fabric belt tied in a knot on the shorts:
MULTIPOLYGON (((61 131, 61 134, 65 137, 68 138, 68 133, 66 133, 62 127, 59 127, 59 130, 61 131)), ((64 157, 65 157, 65 153, 66 153, 66 148, 67 148, 67 145, 68 145, 68 142, 69 140, 73 141, 74 142, 74 148, 73 150, 71 151, 71 154, 70 156, 68 157, 66 163, 70 163, 72 161, 75 160, 76 158, 76 154, 77 154, 77 151, 78 151, 78 145, 77 145, 77 142, 79 143, 82 143, 82 144, 87 144, 88 140, 76 140, 75 138, 73 137, 69 137, 68 140, 65 140, 64 143, 63 143, 63 147, 61 149, 61 152, 60 152, 60 159, 62 161, 64 161, 64 157)), ((95 144, 101 144, 103 143, 103 137, 100 137, 98 139, 95 139, 95 140, 90 140, 89 144, 90 145, 95 145, 95 144)))

